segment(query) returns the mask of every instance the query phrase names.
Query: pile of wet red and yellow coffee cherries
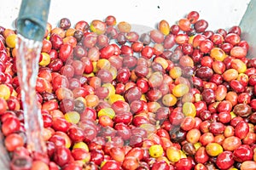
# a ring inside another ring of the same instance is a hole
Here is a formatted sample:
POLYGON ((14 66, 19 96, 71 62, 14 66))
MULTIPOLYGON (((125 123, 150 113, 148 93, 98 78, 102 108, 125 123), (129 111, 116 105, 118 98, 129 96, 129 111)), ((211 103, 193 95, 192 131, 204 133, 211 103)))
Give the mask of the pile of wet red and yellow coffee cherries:
POLYGON ((256 59, 239 26, 209 31, 196 11, 141 34, 112 15, 57 25, 36 83, 45 155, 26 148, 17 33, 0 27, 11 169, 256 169, 256 59))

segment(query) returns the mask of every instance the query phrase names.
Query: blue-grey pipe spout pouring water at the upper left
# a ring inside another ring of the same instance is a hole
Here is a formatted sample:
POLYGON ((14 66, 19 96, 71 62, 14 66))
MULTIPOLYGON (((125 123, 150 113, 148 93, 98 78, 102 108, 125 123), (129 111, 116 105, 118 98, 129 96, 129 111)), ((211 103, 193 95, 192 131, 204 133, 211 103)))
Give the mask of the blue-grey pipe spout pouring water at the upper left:
POLYGON ((27 39, 42 41, 49 15, 50 0, 22 0, 17 32, 27 39))

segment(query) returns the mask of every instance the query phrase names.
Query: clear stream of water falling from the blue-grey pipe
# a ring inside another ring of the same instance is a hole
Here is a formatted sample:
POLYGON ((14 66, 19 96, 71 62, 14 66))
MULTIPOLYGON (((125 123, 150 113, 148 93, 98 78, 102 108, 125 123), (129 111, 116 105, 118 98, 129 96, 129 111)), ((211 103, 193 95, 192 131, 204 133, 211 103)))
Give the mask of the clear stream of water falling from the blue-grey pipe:
POLYGON ((31 153, 38 152, 44 154, 46 153, 46 146, 42 136, 43 119, 41 111, 38 109, 38 99, 35 89, 42 42, 18 35, 16 45, 16 66, 24 111, 27 148, 31 153))

